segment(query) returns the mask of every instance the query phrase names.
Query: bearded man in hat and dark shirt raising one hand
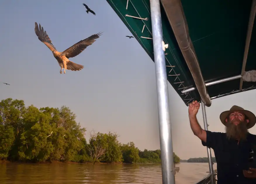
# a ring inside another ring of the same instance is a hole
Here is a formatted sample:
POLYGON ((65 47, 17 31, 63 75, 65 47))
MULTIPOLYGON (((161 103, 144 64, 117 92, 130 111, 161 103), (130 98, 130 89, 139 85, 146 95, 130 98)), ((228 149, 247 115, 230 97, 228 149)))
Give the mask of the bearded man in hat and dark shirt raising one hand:
POLYGON ((196 114, 200 103, 188 106, 191 129, 203 146, 213 149, 218 171, 217 184, 256 183, 256 135, 248 132, 256 123, 255 115, 233 106, 220 114, 226 133, 205 131, 198 124, 196 114))

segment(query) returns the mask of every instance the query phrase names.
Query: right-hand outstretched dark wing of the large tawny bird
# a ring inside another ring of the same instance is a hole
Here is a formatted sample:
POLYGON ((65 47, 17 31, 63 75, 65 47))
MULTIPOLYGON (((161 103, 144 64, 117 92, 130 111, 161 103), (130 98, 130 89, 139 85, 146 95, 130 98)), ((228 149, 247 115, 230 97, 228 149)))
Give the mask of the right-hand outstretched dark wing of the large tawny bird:
POLYGON ((86 49, 86 47, 93 44, 96 41, 95 39, 99 38, 101 36, 101 34, 102 33, 97 33, 97 34, 89 36, 88 38, 86 38, 84 40, 77 42, 76 44, 72 45, 71 47, 69 47, 68 49, 63 51, 61 53, 61 55, 65 56, 66 58, 72 58, 72 57, 77 56, 82 51, 84 51, 84 49, 86 49))

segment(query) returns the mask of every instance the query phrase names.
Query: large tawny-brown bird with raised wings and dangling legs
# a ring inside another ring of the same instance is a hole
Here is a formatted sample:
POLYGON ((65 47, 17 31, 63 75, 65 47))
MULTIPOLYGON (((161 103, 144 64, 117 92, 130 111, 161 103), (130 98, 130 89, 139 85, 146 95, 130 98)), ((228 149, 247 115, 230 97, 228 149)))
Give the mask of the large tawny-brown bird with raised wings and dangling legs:
POLYGON ((89 45, 93 44, 97 39, 101 36, 101 33, 97 33, 94 35, 89 36, 88 38, 81 40, 77 42, 76 44, 72 45, 68 49, 66 49, 63 52, 57 51, 57 49, 54 47, 54 45, 51 42, 51 39, 47 35, 46 31, 44 31, 44 28, 41 27, 39 24, 35 22, 35 33, 38 37, 38 39, 43 42, 53 53, 53 56, 58 61, 61 69, 60 73, 62 73, 62 69, 64 68, 64 74, 66 73, 66 69, 72 70, 72 71, 79 71, 84 68, 83 65, 79 65, 75 62, 70 61, 68 58, 73 58, 80 54, 84 49, 86 49, 89 45))

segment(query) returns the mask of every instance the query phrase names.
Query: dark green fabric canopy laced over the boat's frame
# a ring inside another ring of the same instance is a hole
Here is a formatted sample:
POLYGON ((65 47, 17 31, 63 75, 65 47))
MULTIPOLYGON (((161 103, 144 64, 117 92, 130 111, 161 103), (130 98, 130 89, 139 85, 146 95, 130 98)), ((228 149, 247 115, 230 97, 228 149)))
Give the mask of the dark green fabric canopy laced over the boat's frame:
MULTIPOLYGON (((149 0, 107 2, 154 61, 149 0)), ((163 3, 163 0, 161 2, 163 3)), ((167 78, 188 105, 192 100, 200 101, 201 97, 198 90, 182 93, 184 89, 196 87, 196 83, 169 23, 166 11, 170 10, 162 3, 163 39, 169 46, 165 51, 167 78)), ((252 1, 181 0, 181 4, 205 83, 241 75, 252 1)), ((245 71, 256 69, 255 27, 252 29, 250 40, 245 71)), ((243 90, 239 90, 239 86, 240 78, 207 86, 206 89, 213 99, 256 88, 255 82, 243 81, 243 90)))

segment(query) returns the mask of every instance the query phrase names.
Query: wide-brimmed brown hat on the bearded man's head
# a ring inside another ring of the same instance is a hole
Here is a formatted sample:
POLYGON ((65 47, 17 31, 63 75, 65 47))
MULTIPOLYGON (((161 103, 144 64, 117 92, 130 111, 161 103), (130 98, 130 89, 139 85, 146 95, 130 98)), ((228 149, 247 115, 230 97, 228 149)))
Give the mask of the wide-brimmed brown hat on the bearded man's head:
POLYGON ((227 123, 226 118, 228 118, 228 116, 231 112, 242 112, 246 116, 245 118, 249 120, 249 122, 247 124, 247 129, 252 128, 256 123, 256 117, 252 112, 250 112, 249 110, 244 110, 243 108, 241 108, 239 106, 233 106, 233 107, 231 107, 230 110, 224 111, 219 115, 220 121, 225 126, 227 123))

